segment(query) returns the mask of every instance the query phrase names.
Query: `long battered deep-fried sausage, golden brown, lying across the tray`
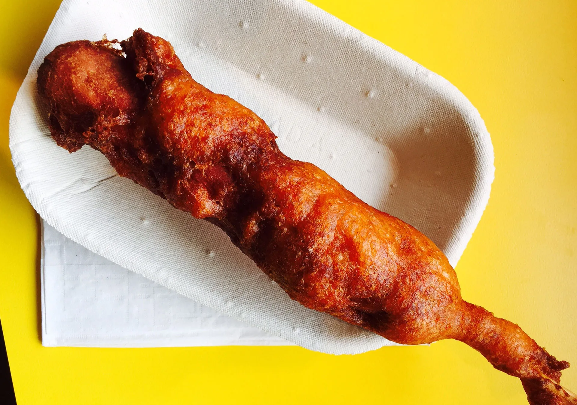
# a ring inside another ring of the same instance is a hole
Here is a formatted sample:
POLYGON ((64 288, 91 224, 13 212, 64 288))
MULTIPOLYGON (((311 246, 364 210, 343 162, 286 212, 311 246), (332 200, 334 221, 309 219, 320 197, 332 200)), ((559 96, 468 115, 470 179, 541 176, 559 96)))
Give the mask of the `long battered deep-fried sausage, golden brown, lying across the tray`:
POLYGON ((532 404, 577 403, 557 361, 512 322, 465 302, 421 232, 285 156, 248 108, 196 83, 166 40, 76 41, 38 70, 52 136, 222 228, 291 298, 394 342, 458 339, 519 377, 532 404), (118 44, 122 49, 117 49, 118 44))

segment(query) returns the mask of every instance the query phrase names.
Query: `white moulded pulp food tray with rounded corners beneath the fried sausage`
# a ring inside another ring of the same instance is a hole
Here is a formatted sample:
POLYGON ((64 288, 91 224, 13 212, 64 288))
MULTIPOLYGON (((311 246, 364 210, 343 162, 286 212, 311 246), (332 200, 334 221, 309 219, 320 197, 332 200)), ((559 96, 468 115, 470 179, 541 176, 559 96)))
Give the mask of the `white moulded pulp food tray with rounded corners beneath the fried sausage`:
POLYGON ((413 224, 455 265, 489 198, 493 149, 448 81, 304 1, 65 0, 16 98, 10 149, 20 184, 59 232, 108 260, 312 350, 357 353, 387 340, 291 301, 223 232, 114 176, 89 148, 48 136, 36 70, 60 43, 173 43, 192 76, 251 108, 283 152, 413 224))

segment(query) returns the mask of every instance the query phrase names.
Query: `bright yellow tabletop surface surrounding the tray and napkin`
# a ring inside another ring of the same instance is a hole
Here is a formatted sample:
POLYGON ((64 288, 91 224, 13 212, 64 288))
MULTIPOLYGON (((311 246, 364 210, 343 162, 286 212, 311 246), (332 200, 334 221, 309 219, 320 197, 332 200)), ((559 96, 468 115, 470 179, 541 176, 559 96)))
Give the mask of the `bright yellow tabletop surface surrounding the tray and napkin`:
MULTIPOLYGON (((455 84, 491 133, 496 178, 456 271, 463 297, 574 367, 577 2, 314 0, 455 84)), ((59 1, 0 1, 0 318, 19 404, 524 404, 519 380, 454 341, 355 356, 298 347, 44 348, 36 214, 8 118, 59 1)))

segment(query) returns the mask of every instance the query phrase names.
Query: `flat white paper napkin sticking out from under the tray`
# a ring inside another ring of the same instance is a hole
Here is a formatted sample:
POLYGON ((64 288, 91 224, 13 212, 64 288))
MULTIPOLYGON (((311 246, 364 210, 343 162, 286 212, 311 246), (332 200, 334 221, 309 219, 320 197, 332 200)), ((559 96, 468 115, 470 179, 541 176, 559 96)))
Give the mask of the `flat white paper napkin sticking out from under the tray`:
POLYGON ((44 346, 292 344, 124 269, 46 223, 40 282, 44 346))

